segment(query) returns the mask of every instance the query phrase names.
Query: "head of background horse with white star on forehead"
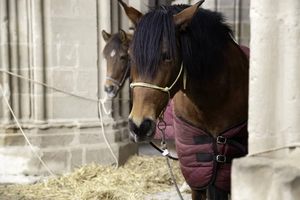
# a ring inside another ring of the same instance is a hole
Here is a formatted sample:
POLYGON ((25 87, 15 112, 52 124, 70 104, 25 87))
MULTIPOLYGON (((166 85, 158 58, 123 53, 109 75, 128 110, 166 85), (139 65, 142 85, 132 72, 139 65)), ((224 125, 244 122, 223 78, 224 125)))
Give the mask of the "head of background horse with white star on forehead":
POLYGON ((104 91, 108 97, 113 98, 129 74, 127 50, 131 35, 126 34, 122 29, 112 35, 102 30, 102 37, 106 42, 103 55, 107 60, 104 91))

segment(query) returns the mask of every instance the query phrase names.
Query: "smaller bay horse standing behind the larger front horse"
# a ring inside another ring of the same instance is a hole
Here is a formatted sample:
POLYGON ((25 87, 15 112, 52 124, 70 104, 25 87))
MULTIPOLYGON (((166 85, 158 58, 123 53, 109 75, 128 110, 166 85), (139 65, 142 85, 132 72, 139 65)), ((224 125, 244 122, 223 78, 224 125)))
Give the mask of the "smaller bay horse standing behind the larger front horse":
MULTIPOLYGON (((107 61, 106 65, 106 81, 104 83, 104 91, 109 98, 114 98, 119 89, 123 86, 124 81, 129 78, 130 65, 128 65, 127 50, 129 43, 132 40, 132 34, 119 29, 117 33, 111 34, 102 30, 102 37, 105 41, 103 49, 103 56, 107 61)), ((172 128, 172 119, 169 106, 165 112, 167 128, 165 129, 166 141, 168 142, 168 150, 170 152, 170 158, 178 160, 176 153, 174 133, 172 128)), ((162 152, 161 147, 162 135, 157 130, 155 138, 150 144, 162 152)), ((180 191, 188 190, 188 185, 184 182, 180 188, 180 191)))

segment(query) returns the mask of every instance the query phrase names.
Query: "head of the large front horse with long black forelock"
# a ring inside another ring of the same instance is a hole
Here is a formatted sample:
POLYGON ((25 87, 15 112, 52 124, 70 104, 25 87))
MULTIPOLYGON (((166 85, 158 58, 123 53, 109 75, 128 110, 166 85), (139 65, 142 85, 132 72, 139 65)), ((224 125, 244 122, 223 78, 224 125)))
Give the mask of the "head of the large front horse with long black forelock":
POLYGON ((118 0, 135 27, 128 54, 131 62, 133 83, 148 83, 160 88, 170 87, 179 74, 179 79, 169 90, 162 91, 149 85, 133 84, 133 107, 129 115, 130 138, 135 142, 150 142, 155 134, 156 118, 160 115, 169 97, 183 86, 182 54, 179 35, 192 19, 201 0, 193 6, 182 5, 180 12, 174 7, 159 6, 142 14, 118 0))

